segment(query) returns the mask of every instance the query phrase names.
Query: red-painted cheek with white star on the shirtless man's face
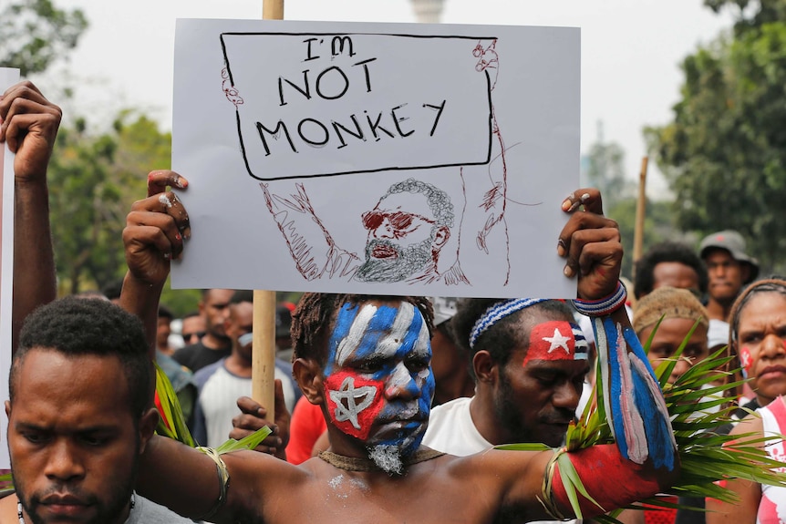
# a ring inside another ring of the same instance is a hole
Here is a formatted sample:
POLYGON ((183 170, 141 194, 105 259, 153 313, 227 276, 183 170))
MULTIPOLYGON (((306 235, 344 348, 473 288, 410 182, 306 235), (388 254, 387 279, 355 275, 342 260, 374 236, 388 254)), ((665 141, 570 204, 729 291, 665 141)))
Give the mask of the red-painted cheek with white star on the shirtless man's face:
POLYGON ((353 371, 338 371, 325 379, 327 413, 333 424, 352 437, 366 440, 382 410, 385 383, 353 371))

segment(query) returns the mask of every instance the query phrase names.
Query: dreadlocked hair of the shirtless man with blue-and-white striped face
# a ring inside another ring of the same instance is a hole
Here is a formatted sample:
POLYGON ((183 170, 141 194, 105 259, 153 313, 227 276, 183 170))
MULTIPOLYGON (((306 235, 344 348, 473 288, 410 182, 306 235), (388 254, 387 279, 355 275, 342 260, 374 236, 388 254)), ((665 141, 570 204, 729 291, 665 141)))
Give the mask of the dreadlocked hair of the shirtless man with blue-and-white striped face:
POLYGON ((311 358, 325 365, 326 335, 336 322, 336 315, 345 303, 357 305, 371 301, 409 302, 418 308, 429 337, 434 331, 434 310, 426 297, 352 293, 304 293, 292 313, 292 343, 294 358, 311 358))

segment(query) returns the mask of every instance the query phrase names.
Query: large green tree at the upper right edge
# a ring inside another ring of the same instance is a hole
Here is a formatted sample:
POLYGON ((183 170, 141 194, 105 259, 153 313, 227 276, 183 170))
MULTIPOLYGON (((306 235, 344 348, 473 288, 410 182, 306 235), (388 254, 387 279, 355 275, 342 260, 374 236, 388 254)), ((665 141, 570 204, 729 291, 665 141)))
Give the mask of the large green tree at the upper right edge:
POLYGON ((674 120, 646 135, 677 196, 677 226, 740 231, 766 273, 786 269, 786 0, 759 7, 740 10, 733 35, 685 58, 674 120))

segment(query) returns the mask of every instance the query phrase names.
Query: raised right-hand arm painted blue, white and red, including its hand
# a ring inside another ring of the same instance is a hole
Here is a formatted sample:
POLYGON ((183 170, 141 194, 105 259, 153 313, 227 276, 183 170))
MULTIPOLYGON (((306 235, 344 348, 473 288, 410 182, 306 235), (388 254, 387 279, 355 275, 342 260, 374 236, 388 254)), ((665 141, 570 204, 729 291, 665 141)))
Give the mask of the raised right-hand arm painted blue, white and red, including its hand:
MULTIPOLYGON (((655 374, 621 307, 625 300, 618 282, 623 252, 616 222, 603 217, 597 190, 574 191, 564 201, 563 210, 573 214, 557 249, 566 260, 565 275, 577 275, 577 306, 593 309, 603 303, 619 304, 611 307, 613 312, 598 307, 599 316, 593 318, 605 413, 616 446, 568 454, 589 494, 609 510, 667 488, 679 470, 677 444, 655 374)), ((556 464, 552 492, 559 508, 567 510, 570 503, 562 473, 556 464)), ((579 498, 584 517, 601 511, 581 495, 579 498)))

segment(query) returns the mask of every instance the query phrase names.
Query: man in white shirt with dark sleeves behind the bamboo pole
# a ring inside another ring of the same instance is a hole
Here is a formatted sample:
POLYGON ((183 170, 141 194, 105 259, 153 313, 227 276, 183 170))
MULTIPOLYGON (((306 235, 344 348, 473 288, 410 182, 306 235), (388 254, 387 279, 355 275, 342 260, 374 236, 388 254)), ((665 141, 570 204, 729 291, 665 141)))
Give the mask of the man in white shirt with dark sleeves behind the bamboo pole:
MULTIPOLYGON (((194 375, 199 396, 194 411, 193 437, 205 446, 220 446, 233 428, 233 418, 240 415, 235 403, 241 396, 251 395, 253 292, 234 292, 229 300, 229 315, 224 330, 232 341, 232 354, 203 367, 194 375)), ((295 388, 291 372, 276 362, 275 397, 283 402, 275 406, 276 431, 284 430, 284 441, 277 438, 270 451, 283 456, 288 437, 289 410, 295 406, 295 388)))

